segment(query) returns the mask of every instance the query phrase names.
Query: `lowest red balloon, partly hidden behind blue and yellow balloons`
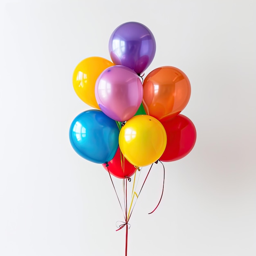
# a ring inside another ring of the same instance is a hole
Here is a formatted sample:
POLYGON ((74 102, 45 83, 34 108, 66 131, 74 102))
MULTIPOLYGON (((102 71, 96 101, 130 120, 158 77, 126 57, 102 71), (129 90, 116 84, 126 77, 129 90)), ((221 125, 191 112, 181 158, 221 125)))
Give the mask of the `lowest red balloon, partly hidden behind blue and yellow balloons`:
POLYGON ((113 159, 108 162, 108 167, 106 164, 102 164, 102 166, 109 171, 110 174, 120 179, 131 177, 137 170, 137 168, 124 157, 119 147, 113 159))

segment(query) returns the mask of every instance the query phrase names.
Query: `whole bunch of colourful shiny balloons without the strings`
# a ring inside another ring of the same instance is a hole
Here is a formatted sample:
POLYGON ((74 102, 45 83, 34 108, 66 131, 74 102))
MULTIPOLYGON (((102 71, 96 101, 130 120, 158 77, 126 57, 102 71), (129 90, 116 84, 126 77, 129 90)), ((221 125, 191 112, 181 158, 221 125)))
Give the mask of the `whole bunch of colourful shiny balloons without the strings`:
POLYGON ((92 110, 70 126, 70 142, 81 157, 108 166, 119 178, 157 160, 175 161, 195 145, 192 121, 181 115, 190 95, 188 77, 163 66, 142 79, 153 61, 155 38, 145 25, 126 22, 109 39, 108 61, 89 57, 73 73, 78 97, 92 110))

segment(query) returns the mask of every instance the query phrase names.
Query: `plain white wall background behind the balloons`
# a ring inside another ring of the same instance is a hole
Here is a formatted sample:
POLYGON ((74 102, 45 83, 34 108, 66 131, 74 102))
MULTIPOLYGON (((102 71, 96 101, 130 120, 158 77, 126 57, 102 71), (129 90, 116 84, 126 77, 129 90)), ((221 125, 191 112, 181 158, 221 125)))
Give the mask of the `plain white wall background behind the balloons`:
POLYGON ((13 0, 0 10, 0 255, 124 255, 108 173, 74 152, 68 130, 91 109, 74 92, 74 68, 110 60, 110 35, 128 21, 155 36, 145 74, 171 65, 189 77, 182 114, 198 135, 189 155, 164 164, 164 196, 148 215, 161 166, 150 173, 128 255, 256 255, 254 0, 13 0))

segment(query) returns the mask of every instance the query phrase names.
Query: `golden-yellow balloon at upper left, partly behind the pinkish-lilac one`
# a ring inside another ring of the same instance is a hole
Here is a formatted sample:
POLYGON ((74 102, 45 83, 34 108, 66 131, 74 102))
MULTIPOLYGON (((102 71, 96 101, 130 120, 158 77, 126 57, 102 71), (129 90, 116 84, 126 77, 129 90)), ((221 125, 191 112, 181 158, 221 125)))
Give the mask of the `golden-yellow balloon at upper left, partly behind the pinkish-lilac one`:
POLYGON ((99 108, 95 99, 95 83, 99 75, 114 63, 101 57, 89 57, 81 61, 73 73, 73 87, 77 96, 93 108, 99 108))

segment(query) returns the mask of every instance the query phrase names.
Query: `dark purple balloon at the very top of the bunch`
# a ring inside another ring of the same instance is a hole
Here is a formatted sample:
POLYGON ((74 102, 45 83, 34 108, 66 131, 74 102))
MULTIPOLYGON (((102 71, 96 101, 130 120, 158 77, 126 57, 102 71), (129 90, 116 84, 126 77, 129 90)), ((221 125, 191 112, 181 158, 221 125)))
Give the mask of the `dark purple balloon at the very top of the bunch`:
POLYGON ((141 74, 155 57, 155 38, 143 24, 126 22, 113 31, 108 50, 115 65, 130 67, 141 74))

